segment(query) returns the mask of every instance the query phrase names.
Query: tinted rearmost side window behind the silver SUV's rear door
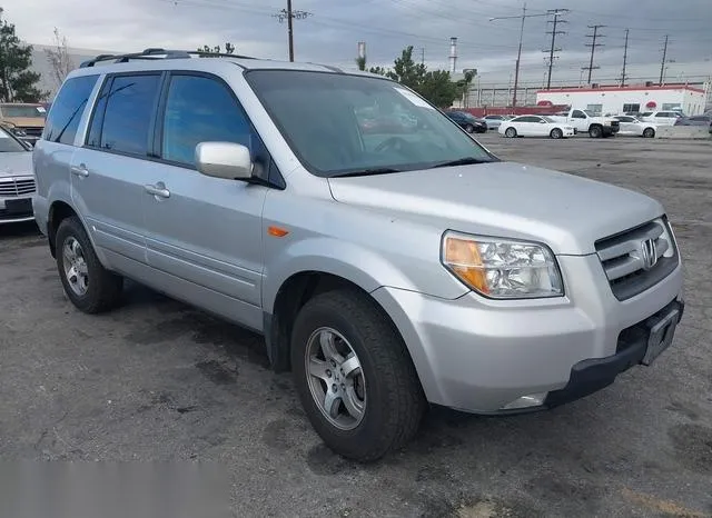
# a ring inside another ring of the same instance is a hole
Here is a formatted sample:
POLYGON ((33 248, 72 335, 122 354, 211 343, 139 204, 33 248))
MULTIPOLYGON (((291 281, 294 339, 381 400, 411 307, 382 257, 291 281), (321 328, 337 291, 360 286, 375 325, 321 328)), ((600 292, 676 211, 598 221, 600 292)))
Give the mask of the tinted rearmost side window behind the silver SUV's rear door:
POLYGON ((79 120, 99 76, 68 79, 59 90, 44 122, 43 138, 52 142, 72 145, 79 120))

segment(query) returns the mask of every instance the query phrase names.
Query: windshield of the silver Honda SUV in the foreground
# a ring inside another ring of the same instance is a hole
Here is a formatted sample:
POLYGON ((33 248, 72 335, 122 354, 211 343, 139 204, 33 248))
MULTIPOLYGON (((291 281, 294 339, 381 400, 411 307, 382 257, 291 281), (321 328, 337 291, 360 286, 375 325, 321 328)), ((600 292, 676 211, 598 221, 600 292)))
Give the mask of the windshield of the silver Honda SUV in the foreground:
POLYGON ((426 169, 495 158, 457 124, 389 80, 286 70, 245 74, 303 165, 314 175, 426 169))

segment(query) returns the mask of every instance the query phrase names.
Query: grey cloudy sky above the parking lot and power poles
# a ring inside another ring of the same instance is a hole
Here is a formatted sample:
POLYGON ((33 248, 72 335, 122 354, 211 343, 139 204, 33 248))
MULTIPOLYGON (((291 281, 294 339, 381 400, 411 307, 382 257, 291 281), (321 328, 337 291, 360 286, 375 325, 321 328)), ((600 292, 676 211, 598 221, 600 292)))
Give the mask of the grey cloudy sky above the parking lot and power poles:
MULTIPOLYGON (((522 12, 520 0, 293 0, 309 13, 295 20, 297 60, 352 67, 358 41, 369 64, 390 64, 405 46, 424 49, 431 68, 447 68, 449 37, 457 37, 458 69, 477 68, 482 83, 511 80, 520 20, 492 17, 522 12)), ((286 58, 287 28, 275 14, 286 0, 4 0, 6 18, 23 40, 49 44, 57 27, 71 47, 135 51, 146 47, 192 49, 230 41, 237 52, 286 58)), ((656 78, 665 34, 668 80, 712 74, 712 0, 528 0, 527 13, 567 8, 566 34, 555 61, 554 81, 577 83, 589 64, 589 24, 601 29, 593 81, 620 76, 625 29, 630 28, 629 74, 656 78)), ((541 84, 542 49, 551 43, 547 17, 526 19, 523 80, 541 84), (548 29, 547 29, 548 27, 548 29)), ((585 80, 585 73, 583 76, 585 80)))

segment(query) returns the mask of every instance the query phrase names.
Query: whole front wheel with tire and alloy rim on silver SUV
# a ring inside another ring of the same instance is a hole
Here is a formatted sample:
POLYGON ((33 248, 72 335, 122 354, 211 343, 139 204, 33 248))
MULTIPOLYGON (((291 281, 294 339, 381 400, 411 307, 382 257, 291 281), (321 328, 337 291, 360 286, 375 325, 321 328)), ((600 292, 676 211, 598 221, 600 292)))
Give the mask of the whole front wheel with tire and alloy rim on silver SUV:
POLYGON ((327 447, 373 461, 416 432, 426 401, 400 336, 356 289, 317 295, 291 335, 301 405, 327 447))

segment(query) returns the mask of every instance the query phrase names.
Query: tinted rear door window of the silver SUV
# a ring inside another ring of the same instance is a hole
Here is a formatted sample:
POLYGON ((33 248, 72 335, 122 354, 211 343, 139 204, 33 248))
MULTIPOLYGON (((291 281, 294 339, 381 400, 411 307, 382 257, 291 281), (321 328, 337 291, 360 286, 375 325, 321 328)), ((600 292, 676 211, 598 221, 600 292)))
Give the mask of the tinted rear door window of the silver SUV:
MULTIPOLYGON (((160 76, 118 76, 102 108, 103 124, 99 138, 100 147, 131 155, 148 155, 148 132, 154 108, 159 94, 160 76)), ((99 111, 97 110, 97 113, 99 111)), ((97 114, 95 113, 95 116, 97 114)), ((100 119, 95 117, 95 119, 100 119)), ((93 123, 90 139, 96 141, 93 123)))

